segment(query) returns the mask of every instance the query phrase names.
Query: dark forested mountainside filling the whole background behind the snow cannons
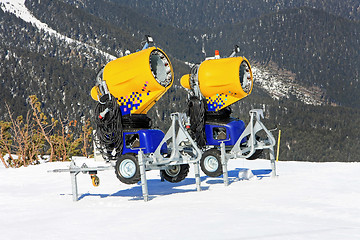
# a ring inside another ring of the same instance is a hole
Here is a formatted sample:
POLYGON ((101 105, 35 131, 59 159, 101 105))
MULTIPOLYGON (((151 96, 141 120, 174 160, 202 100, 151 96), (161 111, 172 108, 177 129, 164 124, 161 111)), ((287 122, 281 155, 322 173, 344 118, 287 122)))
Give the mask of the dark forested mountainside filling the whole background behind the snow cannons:
MULTIPOLYGON (((301 4, 284 3, 280 11, 271 7, 275 10, 268 12, 256 5, 263 1, 254 1, 251 6, 257 6, 259 15, 245 20, 238 17, 231 24, 219 22, 212 29, 207 28, 212 25, 206 16, 236 16, 221 5, 218 9, 224 12, 216 14, 204 6, 196 17, 203 19, 201 26, 206 28, 186 29, 172 20, 185 21, 195 7, 184 18, 170 19, 170 10, 160 11, 156 18, 145 14, 155 11, 153 7, 161 1, 142 11, 140 2, 128 6, 102 0, 41 0, 21 5, 34 20, 25 22, 8 11, 11 4, 21 2, 24 0, 0 1, 0 97, 16 116, 26 113, 27 96, 36 94, 50 116, 90 118, 94 101, 89 91, 98 69, 127 49, 139 49, 143 36, 151 34, 175 69, 175 84, 149 112, 154 126, 165 130, 171 112, 186 111, 186 93, 179 85, 180 76, 189 72, 184 62, 200 62, 215 49, 226 56, 239 44, 241 54, 254 67, 255 87, 249 97, 233 105, 234 116, 247 122, 251 108, 264 109, 268 128, 283 130, 283 159, 360 161, 360 28, 352 20, 356 11, 348 8, 351 1, 333 5, 343 10, 339 15, 348 12, 348 17, 335 16, 328 7, 298 8, 301 4)), ((330 7, 325 1, 312 2, 330 7)), ((186 3, 176 4, 184 9, 192 6, 186 3)), ((209 6, 213 3, 216 1, 209 6)), ((4 104, 0 104, 0 113, 0 120, 6 120, 4 104)))

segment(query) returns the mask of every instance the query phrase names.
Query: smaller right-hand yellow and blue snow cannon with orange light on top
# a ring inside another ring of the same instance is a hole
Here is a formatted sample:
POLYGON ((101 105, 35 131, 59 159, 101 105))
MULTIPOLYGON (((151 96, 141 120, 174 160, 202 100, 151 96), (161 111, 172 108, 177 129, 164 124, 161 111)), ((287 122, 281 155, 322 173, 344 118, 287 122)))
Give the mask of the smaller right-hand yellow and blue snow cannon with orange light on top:
MULTIPOLYGON (((181 85, 188 92, 189 133, 203 149, 200 166, 211 177, 223 174, 223 159, 257 159, 263 149, 273 153, 274 137, 261 122, 263 111, 250 111, 250 123, 231 117, 230 105, 248 96, 253 88, 249 61, 236 57, 235 46, 229 57, 215 56, 194 65, 183 76, 181 85)), ((273 156, 273 154, 270 154, 273 156)), ((272 159, 273 160, 273 159, 272 159)))

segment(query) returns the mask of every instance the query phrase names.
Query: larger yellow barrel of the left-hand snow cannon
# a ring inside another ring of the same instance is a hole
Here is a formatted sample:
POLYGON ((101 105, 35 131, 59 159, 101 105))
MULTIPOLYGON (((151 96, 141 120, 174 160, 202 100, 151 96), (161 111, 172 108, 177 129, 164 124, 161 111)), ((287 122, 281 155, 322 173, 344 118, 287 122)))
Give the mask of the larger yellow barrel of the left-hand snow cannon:
POLYGON ((103 80, 123 115, 146 114, 171 87, 174 72, 165 52, 150 47, 109 62, 103 80))

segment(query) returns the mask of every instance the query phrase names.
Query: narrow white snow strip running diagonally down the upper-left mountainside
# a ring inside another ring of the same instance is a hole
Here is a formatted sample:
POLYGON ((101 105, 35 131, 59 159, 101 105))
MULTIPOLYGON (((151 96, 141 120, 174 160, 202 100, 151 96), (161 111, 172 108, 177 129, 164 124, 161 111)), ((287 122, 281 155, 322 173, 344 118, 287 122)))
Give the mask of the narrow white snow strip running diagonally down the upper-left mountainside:
POLYGON ((24 20, 25 22, 31 23, 33 26, 38 28, 39 30, 43 30, 50 35, 65 41, 68 44, 76 44, 79 46, 87 47, 90 49, 95 50, 97 53, 102 54, 106 56, 109 60, 113 60, 116 57, 112 56, 111 54, 108 54, 104 51, 101 51, 93 46, 90 46, 86 43, 82 43, 80 41, 71 39, 69 37, 66 37, 54 29, 50 28, 46 23, 43 23, 39 21, 25 6, 25 0, 0 0, 0 7, 4 12, 9 12, 17 16, 18 18, 24 20))

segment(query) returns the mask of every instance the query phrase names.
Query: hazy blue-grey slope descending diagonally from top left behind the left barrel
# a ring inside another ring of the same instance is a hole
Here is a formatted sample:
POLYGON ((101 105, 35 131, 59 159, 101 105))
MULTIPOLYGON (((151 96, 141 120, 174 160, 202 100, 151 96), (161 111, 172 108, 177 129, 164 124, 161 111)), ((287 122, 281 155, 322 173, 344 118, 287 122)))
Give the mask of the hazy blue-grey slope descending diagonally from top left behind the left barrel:
MULTIPOLYGON (((66 1, 72 2, 74 1, 66 1)), ((78 2, 78 1, 75 1, 78 2)), ((81 1, 81 9, 107 23, 132 33, 136 38, 143 39, 146 34, 154 37, 157 46, 164 49, 170 56, 184 61, 184 59, 203 60, 201 52, 201 42, 196 41, 193 35, 196 33, 179 29, 169 25, 169 21, 161 21, 158 18, 151 18, 136 12, 129 7, 106 1, 81 1)), ((35 12, 41 14, 43 4, 37 4, 33 8, 35 12)), ((75 5, 78 6, 78 5, 75 5)), ((80 8, 80 7, 79 7, 80 8)), ((39 17, 41 18, 41 14, 39 17)), ((51 18, 50 16, 48 18, 51 18)), ((59 18, 62 19, 62 18, 59 18)), ((76 20, 76 18, 75 18, 76 20)), ((58 20, 61 21, 61 20, 58 20)), ((54 24, 54 27, 57 27, 54 24)), ((118 39, 121 41, 121 39, 118 39)), ((130 49, 132 51, 135 49, 130 49)))

